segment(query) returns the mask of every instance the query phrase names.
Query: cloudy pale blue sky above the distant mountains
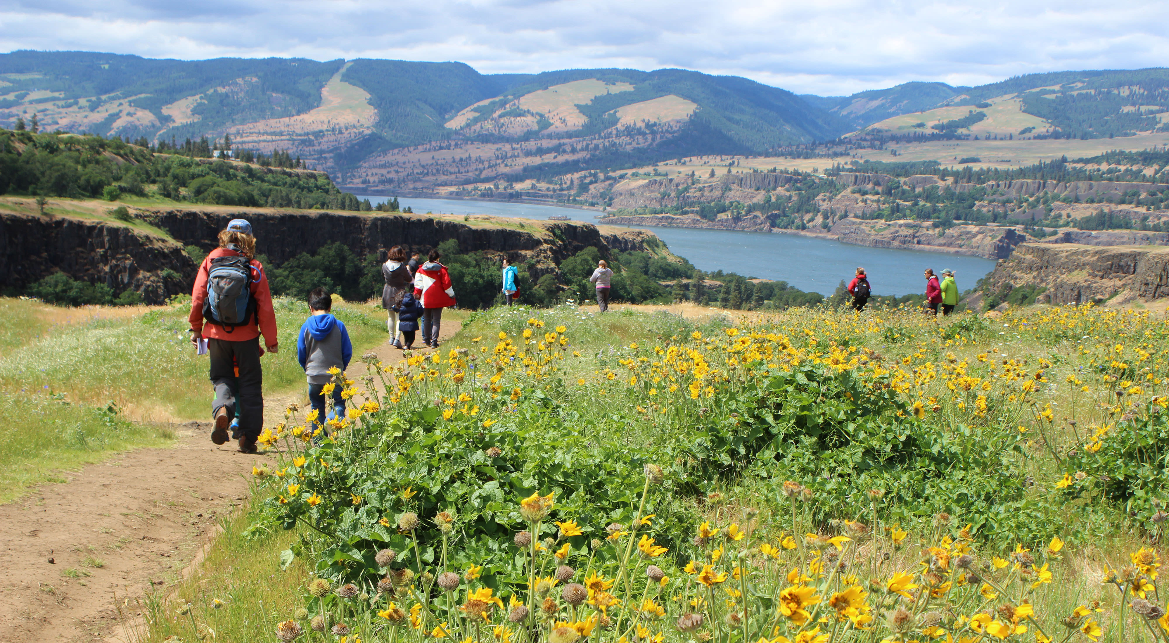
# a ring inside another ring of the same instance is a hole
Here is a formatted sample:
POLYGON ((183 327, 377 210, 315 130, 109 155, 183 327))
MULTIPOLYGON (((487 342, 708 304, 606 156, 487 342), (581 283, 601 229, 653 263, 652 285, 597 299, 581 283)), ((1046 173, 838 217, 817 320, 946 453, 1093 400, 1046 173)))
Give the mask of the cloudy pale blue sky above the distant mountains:
POLYGON ((675 67, 798 94, 1169 61, 1163 0, 6 0, 0 50, 675 67))

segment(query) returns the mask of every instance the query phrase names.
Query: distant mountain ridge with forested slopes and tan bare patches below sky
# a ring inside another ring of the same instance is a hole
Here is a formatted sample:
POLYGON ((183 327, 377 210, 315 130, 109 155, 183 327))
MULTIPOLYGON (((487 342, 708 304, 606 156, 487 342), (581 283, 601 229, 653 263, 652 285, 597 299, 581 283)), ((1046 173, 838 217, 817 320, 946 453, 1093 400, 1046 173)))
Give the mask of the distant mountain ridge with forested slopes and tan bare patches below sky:
POLYGON ((773 154, 850 132, 1101 138, 1169 126, 1169 70, 796 96, 683 69, 479 74, 459 62, 0 54, 0 125, 288 150, 385 188, 773 154), (537 168, 537 170, 532 170, 537 168), (535 174, 533 174, 535 172, 535 174))

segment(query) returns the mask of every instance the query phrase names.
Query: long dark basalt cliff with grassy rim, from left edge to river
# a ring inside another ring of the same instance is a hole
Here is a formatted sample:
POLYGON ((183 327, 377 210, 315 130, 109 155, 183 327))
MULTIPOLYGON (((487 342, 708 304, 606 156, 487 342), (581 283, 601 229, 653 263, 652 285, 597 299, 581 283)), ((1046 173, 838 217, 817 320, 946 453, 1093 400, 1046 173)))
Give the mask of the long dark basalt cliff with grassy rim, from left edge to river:
MULTIPOLYGON (((87 209, 85 202, 62 203, 74 212, 87 209)), ((455 238, 465 253, 507 256, 528 265, 534 277, 554 274, 561 261, 589 246, 603 256, 616 250, 665 251, 650 231, 577 222, 226 206, 130 208, 131 220, 124 222, 97 214, 109 203, 88 208, 94 217, 42 216, 28 206, 27 200, 0 200, 0 274, 6 276, 6 291, 20 292, 61 271, 78 281, 106 284, 116 292, 138 291, 148 304, 189 293, 198 265, 186 248, 210 250, 219 231, 235 217, 251 222, 257 254, 276 265, 331 242, 340 242, 362 257, 375 254, 382 258, 393 246, 424 254, 455 238)))

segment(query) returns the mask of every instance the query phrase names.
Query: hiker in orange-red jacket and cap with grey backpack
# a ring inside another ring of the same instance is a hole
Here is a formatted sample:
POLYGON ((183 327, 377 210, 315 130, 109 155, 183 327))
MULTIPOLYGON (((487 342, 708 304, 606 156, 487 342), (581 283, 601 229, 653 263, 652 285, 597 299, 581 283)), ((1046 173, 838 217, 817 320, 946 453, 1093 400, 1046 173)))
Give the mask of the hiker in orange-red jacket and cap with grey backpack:
POLYGON ((264 267, 254 258, 256 238, 250 223, 231 220, 220 233, 219 244, 199 267, 191 291, 191 341, 198 346, 200 338, 207 339, 210 355, 209 376, 215 387, 212 442, 227 442, 228 423, 235 419, 242 434, 240 450, 254 454, 264 427, 264 378, 260 366, 264 348, 260 347, 260 336, 264 336, 269 352, 278 350, 272 295, 264 267))

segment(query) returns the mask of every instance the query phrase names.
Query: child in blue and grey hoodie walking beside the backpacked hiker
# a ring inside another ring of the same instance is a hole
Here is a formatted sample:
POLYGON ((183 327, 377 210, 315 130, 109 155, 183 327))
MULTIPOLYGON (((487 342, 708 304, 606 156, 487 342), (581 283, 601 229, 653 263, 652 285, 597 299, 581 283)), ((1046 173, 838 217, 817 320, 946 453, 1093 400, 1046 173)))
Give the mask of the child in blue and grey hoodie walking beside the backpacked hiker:
POLYGON ((333 380, 328 374, 330 368, 348 368, 350 359, 353 358, 353 344, 350 343, 345 324, 328 312, 333 310, 333 299, 325 289, 316 288, 309 293, 309 310, 311 314, 300 326, 296 351, 309 380, 309 405, 317 412, 316 426, 324 429, 328 419, 345 415, 343 387, 336 386, 332 393, 333 413, 325 416, 324 388, 333 380))

